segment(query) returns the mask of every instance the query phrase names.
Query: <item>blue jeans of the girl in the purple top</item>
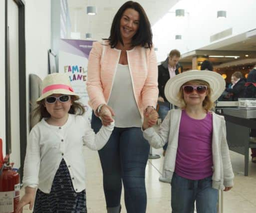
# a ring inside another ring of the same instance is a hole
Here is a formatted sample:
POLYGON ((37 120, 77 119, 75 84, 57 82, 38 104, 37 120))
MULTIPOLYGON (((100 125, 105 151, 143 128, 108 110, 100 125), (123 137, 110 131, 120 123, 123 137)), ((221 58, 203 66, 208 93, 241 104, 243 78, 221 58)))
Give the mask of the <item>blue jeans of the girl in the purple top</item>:
POLYGON ((192 181, 173 174, 172 213, 217 213, 218 190, 212 188, 212 176, 192 181))

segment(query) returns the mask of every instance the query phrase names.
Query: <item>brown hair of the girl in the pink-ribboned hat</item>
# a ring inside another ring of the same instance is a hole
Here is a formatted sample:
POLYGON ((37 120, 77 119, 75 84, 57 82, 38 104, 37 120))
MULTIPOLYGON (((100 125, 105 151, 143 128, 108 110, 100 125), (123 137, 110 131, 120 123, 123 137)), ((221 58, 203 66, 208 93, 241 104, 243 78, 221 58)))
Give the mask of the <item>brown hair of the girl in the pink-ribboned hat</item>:
MULTIPOLYGON (((70 109, 68 111, 69 114, 74 115, 83 115, 85 110, 81 103, 74 101, 74 97, 70 95, 70 100, 72 102, 72 105, 70 106, 70 109)), ((46 110, 46 107, 44 106, 44 99, 38 102, 38 106, 31 112, 31 118, 39 118, 39 121, 42 120, 42 118, 49 118, 51 115, 46 110)))

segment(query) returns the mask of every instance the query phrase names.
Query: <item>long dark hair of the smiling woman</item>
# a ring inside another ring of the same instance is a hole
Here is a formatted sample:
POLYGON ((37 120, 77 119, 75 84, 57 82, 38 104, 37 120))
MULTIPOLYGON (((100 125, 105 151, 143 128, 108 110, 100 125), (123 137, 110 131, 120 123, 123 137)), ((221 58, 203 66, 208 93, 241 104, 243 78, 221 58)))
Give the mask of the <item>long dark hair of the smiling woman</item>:
POLYGON ((111 25, 110 36, 108 39, 105 39, 105 40, 109 40, 109 44, 111 48, 114 48, 118 42, 120 42, 121 44, 124 44, 121 37, 121 32, 120 32, 120 20, 124 11, 128 8, 132 8, 136 10, 140 15, 139 28, 136 34, 132 37, 132 43, 131 43, 132 47, 143 46, 151 49, 152 31, 151 31, 151 25, 146 15, 146 12, 138 2, 131 1, 131 0, 125 2, 118 9, 111 25))

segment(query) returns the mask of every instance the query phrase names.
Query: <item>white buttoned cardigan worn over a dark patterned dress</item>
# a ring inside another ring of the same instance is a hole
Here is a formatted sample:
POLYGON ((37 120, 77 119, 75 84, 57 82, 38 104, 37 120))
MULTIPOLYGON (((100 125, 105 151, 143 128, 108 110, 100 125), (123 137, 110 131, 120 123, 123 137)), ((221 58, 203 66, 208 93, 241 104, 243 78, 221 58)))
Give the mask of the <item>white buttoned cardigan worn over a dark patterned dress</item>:
POLYGON ((80 115, 68 115, 61 126, 49 125, 44 119, 37 123, 28 136, 24 162, 23 186, 38 187, 50 193, 52 182, 62 158, 65 160, 73 188, 76 192, 85 189, 85 159, 83 145, 92 150, 101 149, 108 141, 114 122, 102 126, 95 135, 80 115), (74 178, 74 179, 73 179, 74 178))

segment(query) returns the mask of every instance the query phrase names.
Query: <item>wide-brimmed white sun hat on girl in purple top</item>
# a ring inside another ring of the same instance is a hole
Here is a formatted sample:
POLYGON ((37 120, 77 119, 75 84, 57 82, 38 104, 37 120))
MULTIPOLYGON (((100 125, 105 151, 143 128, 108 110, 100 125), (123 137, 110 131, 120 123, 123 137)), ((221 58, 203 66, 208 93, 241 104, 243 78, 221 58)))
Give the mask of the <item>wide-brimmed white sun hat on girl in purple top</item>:
POLYGON ((175 106, 181 107, 178 93, 183 84, 191 80, 204 80, 208 82, 212 89, 211 100, 216 101, 226 87, 224 78, 217 72, 207 70, 190 70, 175 75, 169 79, 165 85, 165 97, 175 106))

